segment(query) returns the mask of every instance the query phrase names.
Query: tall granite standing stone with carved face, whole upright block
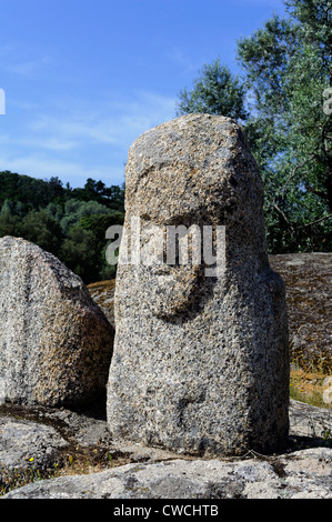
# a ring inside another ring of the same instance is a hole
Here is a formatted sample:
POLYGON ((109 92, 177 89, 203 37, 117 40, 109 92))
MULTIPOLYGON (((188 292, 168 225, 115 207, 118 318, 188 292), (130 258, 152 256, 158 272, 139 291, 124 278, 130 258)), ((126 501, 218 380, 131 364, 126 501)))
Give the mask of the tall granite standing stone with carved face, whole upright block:
MULTIPOLYGON (((114 438, 191 454, 268 451, 288 433, 284 284, 269 267, 263 189, 241 128, 191 114, 142 134, 127 163, 128 244, 153 227, 225 227, 220 275, 209 262, 128 262, 114 300, 108 425, 114 438)), ((214 229, 214 230, 215 230, 214 229)), ((160 261, 160 259, 159 259, 160 261)))

